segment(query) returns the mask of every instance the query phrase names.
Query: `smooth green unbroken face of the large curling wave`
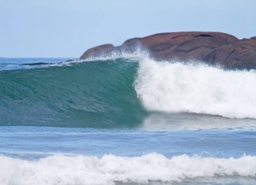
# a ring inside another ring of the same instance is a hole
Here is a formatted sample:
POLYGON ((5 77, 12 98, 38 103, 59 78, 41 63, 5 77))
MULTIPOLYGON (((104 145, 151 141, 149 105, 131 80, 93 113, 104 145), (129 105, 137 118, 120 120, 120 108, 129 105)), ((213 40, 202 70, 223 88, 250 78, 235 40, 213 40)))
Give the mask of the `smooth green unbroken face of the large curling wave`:
POLYGON ((137 67, 119 59, 2 71, 1 125, 133 128, 145 117, 137 67))

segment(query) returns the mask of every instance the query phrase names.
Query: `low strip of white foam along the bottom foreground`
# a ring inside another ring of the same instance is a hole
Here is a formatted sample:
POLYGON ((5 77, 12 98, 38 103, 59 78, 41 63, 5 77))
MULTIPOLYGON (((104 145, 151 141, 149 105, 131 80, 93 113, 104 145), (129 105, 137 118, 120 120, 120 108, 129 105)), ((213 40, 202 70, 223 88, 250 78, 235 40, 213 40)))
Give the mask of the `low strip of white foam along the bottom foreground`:
POLYGON ((1 185, 100 185, 115 182, 171 182, 186 178, 214 176, 256 176, 256 157, 239 158, 164 157, 147 154, 141 157, 45 157, 25 161, 0 157, 1 185))

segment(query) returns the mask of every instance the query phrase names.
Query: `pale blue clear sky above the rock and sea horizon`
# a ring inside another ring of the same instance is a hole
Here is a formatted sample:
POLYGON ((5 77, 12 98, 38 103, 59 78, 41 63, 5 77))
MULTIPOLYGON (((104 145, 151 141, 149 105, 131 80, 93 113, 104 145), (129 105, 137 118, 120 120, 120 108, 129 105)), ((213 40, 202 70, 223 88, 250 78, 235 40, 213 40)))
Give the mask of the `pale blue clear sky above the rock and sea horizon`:
POLYGON ((80 57, 159 32, 256 35, 255 0, 0 0, 0 57, 80 57))

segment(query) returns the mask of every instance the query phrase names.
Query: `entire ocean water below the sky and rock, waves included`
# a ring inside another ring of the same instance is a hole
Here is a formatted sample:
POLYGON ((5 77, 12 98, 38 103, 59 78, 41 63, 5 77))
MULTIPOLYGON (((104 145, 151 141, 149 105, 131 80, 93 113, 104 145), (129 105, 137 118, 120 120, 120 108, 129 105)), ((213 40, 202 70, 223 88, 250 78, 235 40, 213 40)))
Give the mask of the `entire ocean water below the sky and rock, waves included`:
POLYGON ((68 59, 0 57, 1 185, 256 184, 254 70, 68 59))

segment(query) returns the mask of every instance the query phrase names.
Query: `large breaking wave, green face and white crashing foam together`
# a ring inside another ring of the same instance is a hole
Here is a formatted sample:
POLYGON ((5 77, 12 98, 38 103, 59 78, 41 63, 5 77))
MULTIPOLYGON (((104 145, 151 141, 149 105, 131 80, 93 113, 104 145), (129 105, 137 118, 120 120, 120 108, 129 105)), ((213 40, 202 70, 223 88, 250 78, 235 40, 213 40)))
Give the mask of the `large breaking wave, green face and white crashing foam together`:
MULTIPOLYGON (((0 122, 134 128, 152 111, 256 118, 254 71, 153 61, 143 54, 111 57, 0 71, 0 122)), ((28 63, 51 63, 45 60, 28 63)))

